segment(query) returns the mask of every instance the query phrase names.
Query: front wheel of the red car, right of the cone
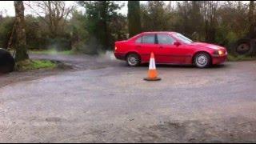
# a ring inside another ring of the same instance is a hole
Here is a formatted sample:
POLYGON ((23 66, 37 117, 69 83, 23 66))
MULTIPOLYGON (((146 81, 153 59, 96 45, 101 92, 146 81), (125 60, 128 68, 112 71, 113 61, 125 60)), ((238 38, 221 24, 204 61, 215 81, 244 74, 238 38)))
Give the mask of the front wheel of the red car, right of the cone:
POLYGON ((211 66, 211 58, 209 54, 204 52, 198 53, 194 56, 194 65, 198 68, 207 68, 211 66))

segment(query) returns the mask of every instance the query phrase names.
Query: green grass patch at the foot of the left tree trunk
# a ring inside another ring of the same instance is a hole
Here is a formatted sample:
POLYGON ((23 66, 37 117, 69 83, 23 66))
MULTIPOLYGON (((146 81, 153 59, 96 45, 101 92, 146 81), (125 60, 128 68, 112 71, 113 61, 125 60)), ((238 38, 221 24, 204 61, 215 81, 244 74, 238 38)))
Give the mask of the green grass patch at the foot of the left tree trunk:
POLYGON ((15 69, 18 71, 38 70, 38 69, 54 69, 56 63, 49 60, 26 60, 16 63, 15 69))

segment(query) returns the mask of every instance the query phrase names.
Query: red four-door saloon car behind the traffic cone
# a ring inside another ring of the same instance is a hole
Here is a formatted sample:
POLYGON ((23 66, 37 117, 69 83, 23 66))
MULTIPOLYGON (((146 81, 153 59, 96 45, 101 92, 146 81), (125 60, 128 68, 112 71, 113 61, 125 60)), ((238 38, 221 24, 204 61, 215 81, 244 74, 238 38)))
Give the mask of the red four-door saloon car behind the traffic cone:
POLYGON ((199 68, 223 63, 227 58, 226 48, 193 42, 176 32, 144 32, 115 42, 115 57, 126 60, 129 66, 148 63, 151 52, 158 64, 194 64, 199 68))

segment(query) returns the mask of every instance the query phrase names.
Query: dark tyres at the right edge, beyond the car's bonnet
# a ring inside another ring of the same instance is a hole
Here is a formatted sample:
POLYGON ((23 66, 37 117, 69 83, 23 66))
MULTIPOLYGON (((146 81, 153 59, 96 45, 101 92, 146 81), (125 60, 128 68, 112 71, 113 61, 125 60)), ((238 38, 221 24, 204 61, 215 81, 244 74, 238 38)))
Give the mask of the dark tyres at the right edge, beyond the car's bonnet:
POLYGON ((231 54, 235 56, 255 56, 256 55, 256 39, 242 38, 231 46, 231 54))

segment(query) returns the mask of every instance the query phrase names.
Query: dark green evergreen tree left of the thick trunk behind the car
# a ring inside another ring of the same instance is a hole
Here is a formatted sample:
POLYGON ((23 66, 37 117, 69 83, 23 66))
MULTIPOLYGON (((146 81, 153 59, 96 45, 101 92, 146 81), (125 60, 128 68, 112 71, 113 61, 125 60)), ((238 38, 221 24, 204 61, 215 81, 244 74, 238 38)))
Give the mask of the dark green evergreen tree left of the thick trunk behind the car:
POLYGON ((116 2, 113 1, 80 1, 81 6, 86 8, 86 29, 94 38, 95 47, 102 47, 103 50, 110 50, 113 47, 110 23, 118 16, 116 10, 120 10, 116 2))

